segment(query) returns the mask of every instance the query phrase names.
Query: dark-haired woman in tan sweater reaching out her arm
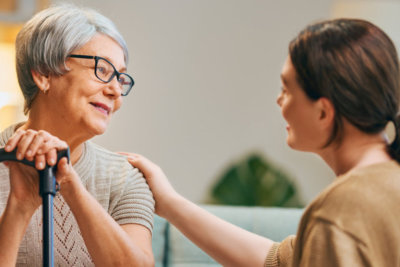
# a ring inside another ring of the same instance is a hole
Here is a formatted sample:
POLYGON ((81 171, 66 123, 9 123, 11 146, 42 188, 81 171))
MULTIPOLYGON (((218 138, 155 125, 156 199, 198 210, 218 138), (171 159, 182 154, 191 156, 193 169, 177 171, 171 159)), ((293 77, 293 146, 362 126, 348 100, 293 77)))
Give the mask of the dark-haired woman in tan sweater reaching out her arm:
POLYGON ((290 43, 281 81, 288 145, 319 155, 337 175, 306 208, 297 236, 275 243, 231 225, 178 194, 154 163, 128 154, 149 182, 156 212, 224 266, 400 266, 400 79, 392 41, 363 20, 310 25, 290 43))

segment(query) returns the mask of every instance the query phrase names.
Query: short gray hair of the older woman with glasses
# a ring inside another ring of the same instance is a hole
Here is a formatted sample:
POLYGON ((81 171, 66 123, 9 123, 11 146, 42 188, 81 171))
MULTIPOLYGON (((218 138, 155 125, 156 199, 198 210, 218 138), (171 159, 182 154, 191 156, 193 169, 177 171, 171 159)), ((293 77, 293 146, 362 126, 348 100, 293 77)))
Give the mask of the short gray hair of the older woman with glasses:
POLYGON ((42 75, 64 74, 68 71, 67 56, 97 33, 107 35, 121 46, 127 64, 128 48, 124 38, 110 19, 93 9, 61 4, 37 13, 23 26, 16 40, 16 65, 25 98, 25 114, 39 90, 31 71, 42 75))

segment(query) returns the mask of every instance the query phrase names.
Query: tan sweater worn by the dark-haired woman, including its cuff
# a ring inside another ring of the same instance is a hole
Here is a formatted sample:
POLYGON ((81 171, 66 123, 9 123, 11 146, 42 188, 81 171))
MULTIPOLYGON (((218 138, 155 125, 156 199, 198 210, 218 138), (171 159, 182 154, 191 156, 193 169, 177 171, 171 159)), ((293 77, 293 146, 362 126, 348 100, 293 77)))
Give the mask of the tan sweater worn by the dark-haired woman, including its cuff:
POLYGON ((339 176, 305 210, 297 236, 265 266, 400 266, 400 166, 392 160, 339 176))

